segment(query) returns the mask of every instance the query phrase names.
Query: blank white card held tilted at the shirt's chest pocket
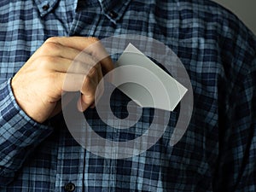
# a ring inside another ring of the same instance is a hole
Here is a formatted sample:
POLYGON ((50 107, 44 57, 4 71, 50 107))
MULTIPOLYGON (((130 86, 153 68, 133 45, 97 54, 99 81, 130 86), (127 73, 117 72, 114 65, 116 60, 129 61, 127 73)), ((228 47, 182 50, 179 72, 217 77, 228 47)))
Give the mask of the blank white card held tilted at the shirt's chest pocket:
MULTIPOLYGON (((140 50, 138 50, 133 44, 128 44, 123 54, 120 55, 116 65, 117 67, 129 65, 137 66, 140 68, 143 67, 146 69, 146 71, 149 70, 150 73, 154 73, 154 75, 158 79, 160 79, 161 84, 163 84, 163 86, 165 87, 165 91, 167 92, 169 102, 161 101, 161 90, 157 90, 159 96, 157 96, 156 98, 157 100, 160 100, 160 102, 155 102, 155 98, 152 98, 148 89, 145 89, 142 85, 134 83, 125 83, 117 86, 119 90, 124 92, 125 95, 129 96, 131 100, 136 102, 142 108, 160 108, 167 111, 173 111, 174 108, 177 107, 178 102, 182 100, 183 96, 187 92, 187 89, 182 84, 178 83, 176 79, 173 79, 168 73, 166 73, 163 69, 158 67, 146 55, 144 55, 140 50)), ((145 75, 146 74, 144 74, 144 76, 145 75)), ((143 79, 143 74, 141 74, 140 78, 143 79)), ((113 83, 113 85, 117 84, 113 83)), ((158 86, 154 86, 155 84, 153 83, 150 89, 159 89, 158 86)))

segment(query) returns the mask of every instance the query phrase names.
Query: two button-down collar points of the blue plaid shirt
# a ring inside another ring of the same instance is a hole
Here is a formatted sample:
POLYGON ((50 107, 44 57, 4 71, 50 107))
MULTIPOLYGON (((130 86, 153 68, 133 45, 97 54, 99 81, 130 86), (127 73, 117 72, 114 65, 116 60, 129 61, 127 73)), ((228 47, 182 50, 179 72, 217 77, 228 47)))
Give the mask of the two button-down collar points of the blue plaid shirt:
MULTIPOLYGON (((34 0, 41 16, 47 15, 55 8, 56 3, 59 1, 60 0, 34 0)), ((74 1, 74 3, 75 2, 76 1, 74 1)), ((102 14, 106 15, 113 23, 116 23, 124 15, 125 9, 131 0, 98 0, 98 2, 101 4, 102 14)))

